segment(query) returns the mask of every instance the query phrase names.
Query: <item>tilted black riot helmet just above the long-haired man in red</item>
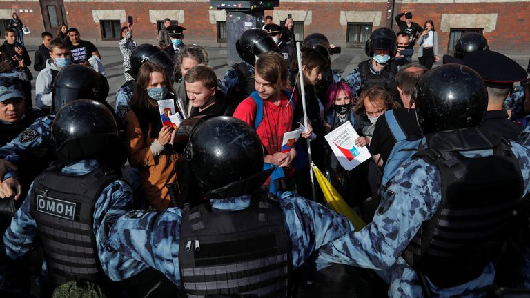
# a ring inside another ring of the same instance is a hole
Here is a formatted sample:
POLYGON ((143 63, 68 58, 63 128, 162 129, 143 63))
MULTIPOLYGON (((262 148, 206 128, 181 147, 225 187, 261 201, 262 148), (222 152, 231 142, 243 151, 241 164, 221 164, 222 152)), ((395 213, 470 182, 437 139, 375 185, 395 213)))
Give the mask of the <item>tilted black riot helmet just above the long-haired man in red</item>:
POLYGON ((259 28, 248 29, 235 42, 239 57, 248 64, 254 65, 256 57, 264 52, 279 52, 274 39, 265 30, 259 28))

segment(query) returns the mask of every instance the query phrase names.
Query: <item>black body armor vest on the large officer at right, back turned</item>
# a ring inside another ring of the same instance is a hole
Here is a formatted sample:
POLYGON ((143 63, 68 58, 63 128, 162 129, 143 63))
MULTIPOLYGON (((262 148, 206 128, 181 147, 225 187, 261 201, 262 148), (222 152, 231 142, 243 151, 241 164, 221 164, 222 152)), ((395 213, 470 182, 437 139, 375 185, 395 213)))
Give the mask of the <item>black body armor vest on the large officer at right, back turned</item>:
POLYGON ((523 195, 520 166, 509 143, 475 132, 472 128, 451 137, 439 134, 428 141, 429 148, 415 155, 440 172, 442 200, 403 257, 442 288, 479 277, 498 257, 507 224, 523 195), (456 152, 487 147, 493 149, 488 157, 456 152))

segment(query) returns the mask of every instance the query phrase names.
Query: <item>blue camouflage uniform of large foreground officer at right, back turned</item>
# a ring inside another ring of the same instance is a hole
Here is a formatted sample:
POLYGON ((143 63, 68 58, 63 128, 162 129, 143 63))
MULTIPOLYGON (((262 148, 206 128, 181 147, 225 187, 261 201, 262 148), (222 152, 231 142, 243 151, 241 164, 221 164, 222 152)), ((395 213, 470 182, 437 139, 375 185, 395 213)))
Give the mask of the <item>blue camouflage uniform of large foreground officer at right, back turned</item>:
MULTIPOLYGON (((511 144, 520 163, 524 193, 528 193, 530 148, 511 144)), ((493 150, 481 150, 468 157, 491 154, 493 150)), ((406 161, 390 181, 390 191, 382 197, 373 221, 359 232, 352 230, 324 246, 318 252, 317 268, 320 262, 323 266, 334 262, 371 268, 389 282, 389 297, 422 297, 418 275, 401 255, 423 222, 435 214, 442 199, 441 188, 440 172, 435 166, 422 159, 406 161)), ((480 277, 460 286, 442 289, 428 282, 433 297, 477 297, 476 292, 491 286, 494 278, 495 269, 490 263, 480 277)))

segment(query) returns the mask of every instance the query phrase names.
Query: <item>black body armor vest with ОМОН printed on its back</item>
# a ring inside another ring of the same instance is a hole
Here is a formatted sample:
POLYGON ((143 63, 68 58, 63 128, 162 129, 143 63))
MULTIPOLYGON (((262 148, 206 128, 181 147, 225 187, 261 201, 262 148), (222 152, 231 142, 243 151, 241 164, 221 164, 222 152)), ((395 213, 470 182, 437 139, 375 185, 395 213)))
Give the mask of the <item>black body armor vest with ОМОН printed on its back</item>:
POLYGON ((92 226, 95 201, 116 179, 103 170, 66 175, 57 166, 35 179, 31 212, 55 284, 88 279, 105 287, 110 282, 99 264, 92 226))

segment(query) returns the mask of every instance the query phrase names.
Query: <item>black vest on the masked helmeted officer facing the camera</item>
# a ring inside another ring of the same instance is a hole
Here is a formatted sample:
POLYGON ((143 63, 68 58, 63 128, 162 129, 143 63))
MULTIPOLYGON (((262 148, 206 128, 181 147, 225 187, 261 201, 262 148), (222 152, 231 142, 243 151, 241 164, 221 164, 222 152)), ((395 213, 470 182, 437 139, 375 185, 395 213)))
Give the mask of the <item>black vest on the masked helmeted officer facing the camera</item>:
MULTIPOLYGON (((390 64, 385 66, 381 74, 373 74, 370 70, 370 61, 366 60, 359 63, 359 74, 361 76, 361 88, 357 91, 360 94, 362 90, 370 86, 381 86, 390 95, 397 95, 397 85, 395 84, 395 75, 397 74, 397 62, 391 60, 390 64)), ((397 97, 399 99, 399 97, 397 97)))

